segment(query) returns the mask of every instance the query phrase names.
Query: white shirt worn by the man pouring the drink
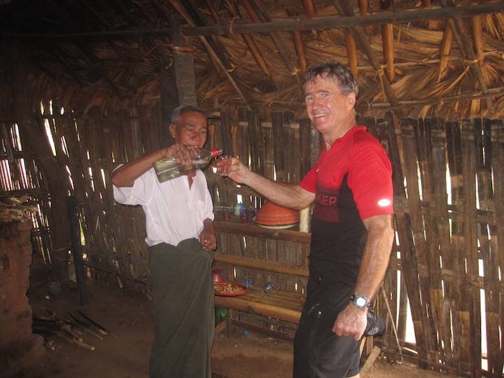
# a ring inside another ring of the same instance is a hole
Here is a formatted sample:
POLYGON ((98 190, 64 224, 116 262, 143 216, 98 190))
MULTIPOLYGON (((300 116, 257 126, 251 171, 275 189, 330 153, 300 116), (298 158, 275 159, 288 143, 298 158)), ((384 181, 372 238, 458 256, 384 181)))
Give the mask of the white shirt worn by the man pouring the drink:
POLYGON ((160 183, 152 168, 132 187, 114 186, 113 195, 121 204, 139 204, 144 209, 148 246, 162 242, 176 246, 184 239, 199 239, 203 221, 214 220, 207 178, 200 169, 190 188, 187 176, 160 183))

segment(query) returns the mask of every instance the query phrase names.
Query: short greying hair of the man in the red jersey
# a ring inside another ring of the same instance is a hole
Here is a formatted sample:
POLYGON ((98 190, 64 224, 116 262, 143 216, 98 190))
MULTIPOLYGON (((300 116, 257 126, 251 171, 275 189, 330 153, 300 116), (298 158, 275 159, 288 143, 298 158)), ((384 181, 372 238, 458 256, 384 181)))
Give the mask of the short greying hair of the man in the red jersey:
POLYGON ((338 62, 324 62, 309 67, 302 80, 303 89, 307 83, 315 83, 317 76, 321 78, 331 78, 337 83, 339 90, 344 96, 348 96, 351 92, 358 94, 358 81, 353 77, 351 71, 338 62))

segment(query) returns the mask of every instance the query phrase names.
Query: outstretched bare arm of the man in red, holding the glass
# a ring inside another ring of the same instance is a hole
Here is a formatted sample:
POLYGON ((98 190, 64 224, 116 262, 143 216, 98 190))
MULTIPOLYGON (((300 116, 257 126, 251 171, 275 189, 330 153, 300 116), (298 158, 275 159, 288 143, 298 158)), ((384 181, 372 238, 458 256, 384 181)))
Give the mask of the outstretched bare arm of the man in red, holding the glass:
POLYGON ((252 172, 236 158, 232 158, 228 176, 233 181, 252 188, 267 200, 283 207, 290 207, 290 209, 304 209, 315 200, 314 193, 304 190, 299 185, 267 179, 252 172))

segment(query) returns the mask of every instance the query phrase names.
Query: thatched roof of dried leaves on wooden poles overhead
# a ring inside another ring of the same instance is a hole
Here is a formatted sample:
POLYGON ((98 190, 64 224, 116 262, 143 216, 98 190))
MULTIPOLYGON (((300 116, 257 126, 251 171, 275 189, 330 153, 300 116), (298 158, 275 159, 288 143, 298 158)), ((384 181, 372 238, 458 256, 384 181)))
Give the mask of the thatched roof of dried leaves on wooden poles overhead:
POLYGON ((366 115, 504 116, 502 1, 456 1, 455 8, 446 0, 0 4, 4 58, 22 47, 57 79, 60 96, 84 96, 87 106, 152 102, 160 97, 160 68, 174 54, 193 54, 200 104, 209 110, 246 103, 302 116, 304 66, 336 60, 358 74, 358 110, 366 115), (174 15, 188 45, 174 43, 174 15))

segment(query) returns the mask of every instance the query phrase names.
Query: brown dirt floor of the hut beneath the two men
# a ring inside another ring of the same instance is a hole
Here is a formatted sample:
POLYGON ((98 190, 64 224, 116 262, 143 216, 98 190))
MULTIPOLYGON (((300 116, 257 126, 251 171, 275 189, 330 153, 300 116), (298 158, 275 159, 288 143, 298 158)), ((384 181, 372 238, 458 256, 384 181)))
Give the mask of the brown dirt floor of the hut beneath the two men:
MULTIPOLYGON (((48 316, 49 310, 57 318, 67 319, 69 313, 76 315, 80 310, 107 328, 110 334, 102 335, 102 339, 85 335, 83 342, 94 346, 94 350, 71 344, 61 337, 46 338, 43 360, 18 377, 148 376, 148 356, 153 339, 151 304, 148 300, 92 285, 88 286, 90 304, 80 307, 74 287, 64 285, 59 293, 57 291, 45 284, 29 292, 34 315, 48 316)), ((287 378, 292 376, 292 354, 291 342, 237 330, 231 338, 222 333, 216 335, 212 367, 215 377, 219 378, 287 378)), ((429 378, 441 375, 410 365, 377 362, 368 377, 429 378)))

